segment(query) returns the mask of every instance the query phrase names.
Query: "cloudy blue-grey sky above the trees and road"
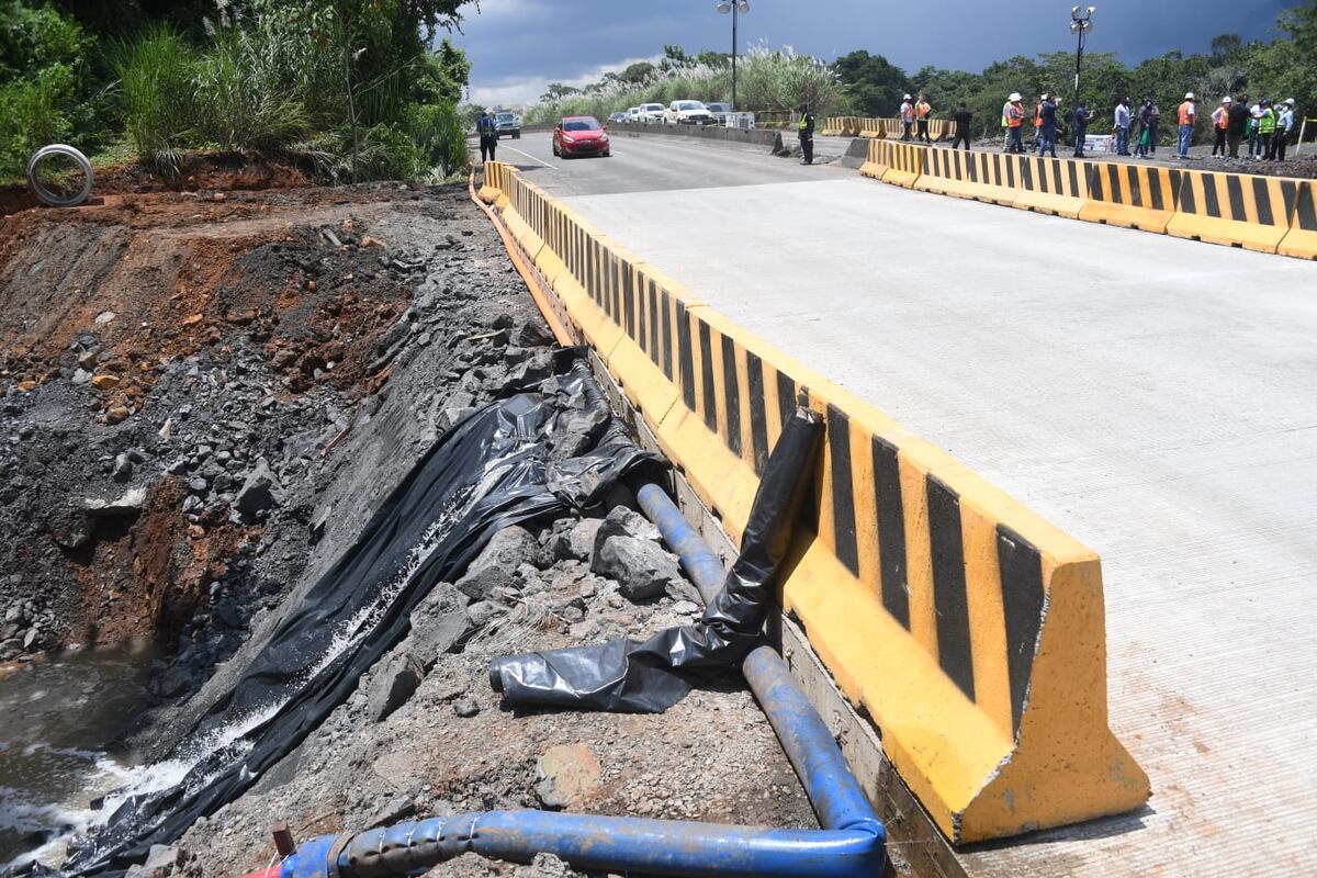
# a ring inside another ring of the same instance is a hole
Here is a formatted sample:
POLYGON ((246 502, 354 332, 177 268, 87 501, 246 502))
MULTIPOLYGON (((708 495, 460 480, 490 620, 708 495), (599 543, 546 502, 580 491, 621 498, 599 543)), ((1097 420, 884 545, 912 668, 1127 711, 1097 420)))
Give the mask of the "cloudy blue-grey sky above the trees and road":
MULTIPOLYGON (((1092 1, 1092 0, 1089 0, 1092 1)), ((1069 0, 749 0, 740 45, 766 41, 832 61, 855 49, 914 72, 923 65, 980 71, 993 61, 1075 50, 1069 0)), ((1138 62, 1206 51, 1218 33, 1275 37, 1284 0, 1097 0, 1093 51, 1138 62)), ((519 104, 551 82, 573 86, 652 59, 664 43, 731 47, 731 16, 714 0, 479 0, 458 45, 471 59, 471 100, 519 104)))

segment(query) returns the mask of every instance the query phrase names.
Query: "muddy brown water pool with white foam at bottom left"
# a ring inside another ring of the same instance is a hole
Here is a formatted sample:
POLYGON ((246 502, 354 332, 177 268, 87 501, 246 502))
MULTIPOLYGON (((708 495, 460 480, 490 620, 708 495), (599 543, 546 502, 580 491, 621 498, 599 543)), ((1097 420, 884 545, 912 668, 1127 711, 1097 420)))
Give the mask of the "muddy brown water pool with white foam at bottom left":
MULTIPOLYGON (((91 803, 129 777, 105 746, 149 702, 148 646, 70 652, 0 667, 0 869, 62 849, 91 803)), ((49 854, 49 856, 46 856, 49 854)))

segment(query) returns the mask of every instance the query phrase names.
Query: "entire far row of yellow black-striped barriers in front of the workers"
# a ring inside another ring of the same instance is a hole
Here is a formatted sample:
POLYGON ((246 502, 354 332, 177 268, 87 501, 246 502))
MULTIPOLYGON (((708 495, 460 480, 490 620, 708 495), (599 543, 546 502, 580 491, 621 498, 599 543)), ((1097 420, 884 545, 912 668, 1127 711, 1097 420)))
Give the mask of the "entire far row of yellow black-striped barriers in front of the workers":
POLYGON ((925 192, 1317 259, 1317 180, 869 142, 860 172, 925 192))

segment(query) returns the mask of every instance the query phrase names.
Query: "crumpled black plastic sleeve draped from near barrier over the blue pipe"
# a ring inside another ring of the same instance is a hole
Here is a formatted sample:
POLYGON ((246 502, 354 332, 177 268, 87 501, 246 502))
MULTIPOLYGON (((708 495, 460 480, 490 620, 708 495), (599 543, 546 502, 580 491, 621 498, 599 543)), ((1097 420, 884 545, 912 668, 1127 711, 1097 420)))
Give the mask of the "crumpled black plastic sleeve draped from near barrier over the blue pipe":
POLYGON ((490 683, 511 706, 661 713, 699 679, 740 662, 763 634, 773 578, 811 473, 822 420, 799 408, 786 423, 755 494, 741 552, 694 625, 597 646, 497 658, 490 683))

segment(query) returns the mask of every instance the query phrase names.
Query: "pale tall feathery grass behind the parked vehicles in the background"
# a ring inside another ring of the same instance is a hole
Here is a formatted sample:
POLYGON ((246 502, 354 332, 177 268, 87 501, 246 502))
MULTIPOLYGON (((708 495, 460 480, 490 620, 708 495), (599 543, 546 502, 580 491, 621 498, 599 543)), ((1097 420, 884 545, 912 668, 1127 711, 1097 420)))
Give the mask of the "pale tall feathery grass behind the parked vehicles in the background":
MULTIPOLYGON (((556 121, 562 116, 595 116, 626 111, 637 104, 669 104, 678 99, 730 101, 731 55, 687 55, 680 46, 666 46, 658 65, 640 62, 585 88, 554 83, 525 115, 527 124, 556 121)), ((809 101, 823 115, 842 99, 836 74, 822 61, 792 49, 751 46, 738 61, 738 101, 759 111, 789 111, 809 101)))

